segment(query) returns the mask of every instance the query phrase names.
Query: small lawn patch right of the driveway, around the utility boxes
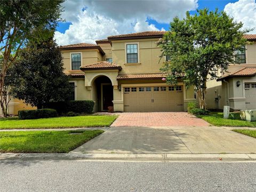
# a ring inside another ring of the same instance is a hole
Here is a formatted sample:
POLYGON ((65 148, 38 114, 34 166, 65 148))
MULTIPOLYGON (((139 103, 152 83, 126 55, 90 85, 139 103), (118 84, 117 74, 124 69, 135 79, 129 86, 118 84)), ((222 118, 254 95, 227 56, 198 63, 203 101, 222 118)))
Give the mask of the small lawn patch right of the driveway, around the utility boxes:
MULTIPOLYGON (((236 114, 235 117, 237 115, 238 114, 236 114)), ((218 112, 211 112, 210 115, 198 115, 198 117, 215 126, 256 127, 256 122, 247 122, 238 119, 223 119, 223 113, 218 112)))

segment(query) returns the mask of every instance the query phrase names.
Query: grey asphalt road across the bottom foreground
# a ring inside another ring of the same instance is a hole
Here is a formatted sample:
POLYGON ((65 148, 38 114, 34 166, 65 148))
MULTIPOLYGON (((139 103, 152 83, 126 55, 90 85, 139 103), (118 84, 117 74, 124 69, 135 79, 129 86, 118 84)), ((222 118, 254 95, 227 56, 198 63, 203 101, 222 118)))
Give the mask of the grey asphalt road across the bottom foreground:
POLYGON ((2 161, 0 191, 256 191, 256 163, 2 161))

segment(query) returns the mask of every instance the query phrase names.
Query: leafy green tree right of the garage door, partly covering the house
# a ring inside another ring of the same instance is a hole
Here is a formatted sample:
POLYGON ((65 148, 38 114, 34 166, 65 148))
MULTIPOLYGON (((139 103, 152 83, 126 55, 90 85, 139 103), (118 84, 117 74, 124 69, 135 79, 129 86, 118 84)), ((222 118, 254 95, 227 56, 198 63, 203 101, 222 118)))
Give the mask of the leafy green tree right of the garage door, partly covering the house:
POLYGON ((166 72, 167 83, 176 84, 182 77, 186 86, 195 86, 199 106, 206 108, 206 81, 217 78, 218 69, 227 70, 234 62, 234 51, 243 50, 246 39, 243 24, 225 12, 199 10, 186 18, 174 18, 170 31, 158 42, 162 57, 168 55, 161 70, 166 72))

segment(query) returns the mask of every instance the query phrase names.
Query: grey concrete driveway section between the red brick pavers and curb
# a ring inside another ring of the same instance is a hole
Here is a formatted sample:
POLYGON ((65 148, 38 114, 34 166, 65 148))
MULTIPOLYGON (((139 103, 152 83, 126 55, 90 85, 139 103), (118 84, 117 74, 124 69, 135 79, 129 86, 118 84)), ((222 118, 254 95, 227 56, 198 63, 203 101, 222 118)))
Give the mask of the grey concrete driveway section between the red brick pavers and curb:
POLYGON ((215 126, 110 127, 71 153, 256 153, 256 139, 215 126))

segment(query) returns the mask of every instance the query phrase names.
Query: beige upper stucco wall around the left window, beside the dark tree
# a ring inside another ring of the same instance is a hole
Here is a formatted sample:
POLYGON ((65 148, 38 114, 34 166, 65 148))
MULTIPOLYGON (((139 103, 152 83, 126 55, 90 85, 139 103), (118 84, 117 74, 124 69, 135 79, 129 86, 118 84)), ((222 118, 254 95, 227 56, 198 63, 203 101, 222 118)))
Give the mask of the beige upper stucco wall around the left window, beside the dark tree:
POLYGON ((81 53, 82 54, 82 66, 90 65, 95 62, 103 61, 103 57, 99 50, 62 50, 63 64, 65 72, 71 70, 71 53, 81 53))

